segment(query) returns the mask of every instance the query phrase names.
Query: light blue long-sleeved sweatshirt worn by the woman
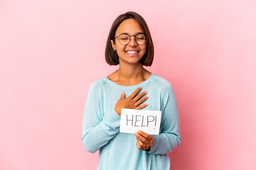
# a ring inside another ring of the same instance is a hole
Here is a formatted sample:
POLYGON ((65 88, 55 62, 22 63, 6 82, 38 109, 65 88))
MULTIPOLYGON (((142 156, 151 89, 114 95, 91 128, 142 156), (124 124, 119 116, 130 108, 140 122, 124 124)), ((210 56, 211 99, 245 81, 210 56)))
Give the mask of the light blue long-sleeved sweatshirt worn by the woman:
POLYGON ((100 149, 97 169, 170 169, 166 154, 180 142, 178 108, 169 81, 151 74, 149 79, 136 86, 120 86, 107 77, 90 86, 82 120, 82 143, 91 153, 100 149), (149 96, 144 102, 148 106, 143 110, 162 111, 160 134, 152 135, 155 140, 149 151, 137 148, 134 134, 119 132, 120 117, 114 111, 122 91, 127 97, 139 86, 149 96))

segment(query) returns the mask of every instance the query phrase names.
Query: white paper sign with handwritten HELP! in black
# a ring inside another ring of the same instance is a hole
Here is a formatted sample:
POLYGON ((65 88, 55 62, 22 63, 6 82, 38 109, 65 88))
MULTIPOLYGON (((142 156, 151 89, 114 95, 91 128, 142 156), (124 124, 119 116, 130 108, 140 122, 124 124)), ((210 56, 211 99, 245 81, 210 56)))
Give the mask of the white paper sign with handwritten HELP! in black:
POLYGON ((119 132, 134 133, 142 130, 149 135, 159 135, 161 111, 144 111, 122 108, 119 132))

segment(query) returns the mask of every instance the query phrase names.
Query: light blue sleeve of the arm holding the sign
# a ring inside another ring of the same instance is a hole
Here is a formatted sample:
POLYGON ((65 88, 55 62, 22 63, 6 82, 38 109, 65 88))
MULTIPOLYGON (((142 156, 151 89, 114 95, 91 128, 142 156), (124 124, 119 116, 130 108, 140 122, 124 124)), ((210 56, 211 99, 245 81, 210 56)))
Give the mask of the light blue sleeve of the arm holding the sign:
POLYGON ((178 107, 174 90, 168 82, 168 86, 161 91, 162 103, 162 130, 159 135, 153 135, 154 143, 149 154, 167 154, 178 147, 181 142, 178 107))

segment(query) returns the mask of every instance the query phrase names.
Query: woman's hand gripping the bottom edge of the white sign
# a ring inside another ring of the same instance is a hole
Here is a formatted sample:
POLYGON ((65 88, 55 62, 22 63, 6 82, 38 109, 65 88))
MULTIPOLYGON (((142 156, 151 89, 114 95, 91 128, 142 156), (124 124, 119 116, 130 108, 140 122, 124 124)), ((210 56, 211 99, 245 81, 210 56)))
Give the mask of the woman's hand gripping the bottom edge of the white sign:
POLYGON ((154 143, 154 137, 142 130, 135 132, 134 135, 137 138, 137 147, 140 150, 149 149, 154 143))

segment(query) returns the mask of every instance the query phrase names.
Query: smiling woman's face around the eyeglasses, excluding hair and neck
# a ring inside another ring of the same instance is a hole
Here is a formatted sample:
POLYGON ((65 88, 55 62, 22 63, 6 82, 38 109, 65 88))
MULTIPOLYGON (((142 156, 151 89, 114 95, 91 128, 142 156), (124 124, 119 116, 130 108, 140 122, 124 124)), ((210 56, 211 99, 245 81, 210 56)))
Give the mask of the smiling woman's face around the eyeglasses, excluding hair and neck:
MULTIPOLYGON (((136 20, 127 19, 119 25, 114 37, 117 37, 122 33, 137 35, 138 33, 144 33, 144 31, 136 20)), ((146 53, 146 43, 144 45, 138 45, 135 41, 135 36, 131 36, 131 41, 127 45, 120 44, 118 38, 116 38, 114 42, 111 40, 113 49, 117 50, 119 64, 122 64, 123 62, 130 64, 139 63, 139 60, 141 60, 146 53)))

